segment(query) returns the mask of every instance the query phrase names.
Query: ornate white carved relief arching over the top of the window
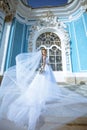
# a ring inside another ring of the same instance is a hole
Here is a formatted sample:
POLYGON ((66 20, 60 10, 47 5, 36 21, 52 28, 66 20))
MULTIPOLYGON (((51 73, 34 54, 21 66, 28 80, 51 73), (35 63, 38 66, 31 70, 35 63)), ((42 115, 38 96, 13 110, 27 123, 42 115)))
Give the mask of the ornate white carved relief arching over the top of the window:
POLYGON ((63 33, 64 39, 66 39, 66 43, 67 43, 67 40, 69 38, 68 38, 68 33, 65 30, 66 25, 63 22, 58 21, 57 19, 58 19, 57 17, 49 16, 49 17, 42 18, 36 21, 35 24, 32 25, 31 28, 29 28, 30 30, 29 43, 32 42, 32 39, 35 33, 37 33, 38 31, 44 28, 55 28, 55 29, 60 30, 63 33))

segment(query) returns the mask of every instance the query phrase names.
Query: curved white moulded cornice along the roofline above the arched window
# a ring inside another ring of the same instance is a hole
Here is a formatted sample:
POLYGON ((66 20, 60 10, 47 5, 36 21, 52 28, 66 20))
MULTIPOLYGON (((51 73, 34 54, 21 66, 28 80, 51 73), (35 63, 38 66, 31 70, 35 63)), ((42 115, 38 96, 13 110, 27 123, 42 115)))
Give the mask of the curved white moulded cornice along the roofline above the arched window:
MULTIPOLYGON (((12 3, 14 2, 13 0, 10 1, 12 3)), ((72 19, 72 16, 74 17, 74 19, 77 18, 78 16, 80 16, 80 14, 82 14, 86 10, 86 8, 87 8, 87 0, 81 0, 81 1, 71 0, 65 6, 38 8, 38 9, 32 9, 29 6, 24 5, 23 2, 19 0, 16 12, 21 17, 24 17, 24 19, 27 20, 35 20, 43 17, 48 17, 48 13, 51 12, 53 16, 56 16, 58 18, 62 17, 70 21, 72 19)))

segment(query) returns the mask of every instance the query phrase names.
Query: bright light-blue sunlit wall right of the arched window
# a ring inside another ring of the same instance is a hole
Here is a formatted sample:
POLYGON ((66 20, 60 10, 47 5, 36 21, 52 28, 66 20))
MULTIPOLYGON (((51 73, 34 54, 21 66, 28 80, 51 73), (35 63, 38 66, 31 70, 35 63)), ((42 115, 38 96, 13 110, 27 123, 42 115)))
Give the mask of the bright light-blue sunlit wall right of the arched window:
POLYGON ((70 23, 71 62, 73 72, 87 71, 87 14, 70 23))

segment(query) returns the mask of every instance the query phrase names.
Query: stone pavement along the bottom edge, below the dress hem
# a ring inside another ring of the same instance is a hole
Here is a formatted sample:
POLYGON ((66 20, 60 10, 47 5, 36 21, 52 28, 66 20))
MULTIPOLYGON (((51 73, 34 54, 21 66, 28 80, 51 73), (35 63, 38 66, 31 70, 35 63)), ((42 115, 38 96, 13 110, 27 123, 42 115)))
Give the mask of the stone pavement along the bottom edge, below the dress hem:
MULTIPOLYGON (((45 121, 40 121, 39 125, 37 125, 36 130, 87 130, 86 117, 76 119, 73 122, 62 127, 58 126, 57 120, 58 119, 56 118, 52 118, 52 120, 51 118, 48 118, 45 121)), ((21 128, 8 120, 2 120, 0 121, 0 130, 27 130, 27 128, 21 128)))

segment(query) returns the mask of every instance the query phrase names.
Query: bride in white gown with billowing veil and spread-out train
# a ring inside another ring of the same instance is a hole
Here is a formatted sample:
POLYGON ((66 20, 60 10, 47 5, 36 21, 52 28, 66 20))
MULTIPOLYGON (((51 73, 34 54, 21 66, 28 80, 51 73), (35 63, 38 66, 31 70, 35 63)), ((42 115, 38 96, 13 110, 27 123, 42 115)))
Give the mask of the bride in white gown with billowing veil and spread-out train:
POLYGON ((87 113, 86 97, 56 83, 44 48, 16 56, 16 65, 4 74, 0 102, 0 118, 27 126, 28 130, 35 130, 41 115, 55 115, 50 105, 53 102, 57 104, 57 116, 69 117, 61 118, 59 126, 87 113))

